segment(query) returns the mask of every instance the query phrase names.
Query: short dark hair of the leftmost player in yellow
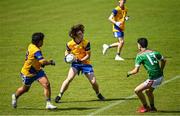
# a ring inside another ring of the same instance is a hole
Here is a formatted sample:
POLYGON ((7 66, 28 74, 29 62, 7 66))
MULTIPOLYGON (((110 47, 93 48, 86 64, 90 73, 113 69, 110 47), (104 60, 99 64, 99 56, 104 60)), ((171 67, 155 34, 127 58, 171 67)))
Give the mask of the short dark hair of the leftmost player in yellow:
POLYGON ((44 34, 41 32, 37 32, 32 35, 32 43, 35 45, 37 45, 39 43, 39 41, 41 41, 43 39, 44 39, 44 34))

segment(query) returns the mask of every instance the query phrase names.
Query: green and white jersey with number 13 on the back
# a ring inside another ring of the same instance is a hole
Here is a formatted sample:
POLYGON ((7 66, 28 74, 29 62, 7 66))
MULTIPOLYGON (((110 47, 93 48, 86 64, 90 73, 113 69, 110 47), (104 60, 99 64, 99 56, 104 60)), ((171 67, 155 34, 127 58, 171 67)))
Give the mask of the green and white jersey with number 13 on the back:
POLYGON ((143 64, 149 74, 149 79, 157 79, 163 76, 163 72, 159 66, 159 60, 162 59, 163 56, 159 52, 145 50, 137 54, 135 66, 140 67, 143 64))

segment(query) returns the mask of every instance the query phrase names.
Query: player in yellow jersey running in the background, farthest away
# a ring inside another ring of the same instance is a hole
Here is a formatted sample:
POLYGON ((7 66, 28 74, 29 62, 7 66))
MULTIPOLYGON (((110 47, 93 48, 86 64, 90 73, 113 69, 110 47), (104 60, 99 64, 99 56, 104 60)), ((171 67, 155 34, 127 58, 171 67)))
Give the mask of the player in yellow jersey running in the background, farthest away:
POLYGON ((109 16, 109 21, 113 24, 113 34, 117 38, 117 42, 107 45, 103 45, 103 55, 107 52, 108 49, 117 47, 117 53, 115 60, 122 61, 124 60, 120 57, 122 47, 124 45, 124 29, 125 29, 125 20, 128 20, 127 8, 125 7, 126 0, 120 0, 119 6, 113 9, 111 15, 109 16))

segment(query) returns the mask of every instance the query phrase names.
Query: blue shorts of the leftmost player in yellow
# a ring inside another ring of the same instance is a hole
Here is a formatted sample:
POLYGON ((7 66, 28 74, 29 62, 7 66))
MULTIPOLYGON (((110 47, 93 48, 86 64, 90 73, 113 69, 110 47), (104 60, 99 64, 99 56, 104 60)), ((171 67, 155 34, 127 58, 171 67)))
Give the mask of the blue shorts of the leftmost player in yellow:
POLYGON ((20 76, 22 77, 23 83, 25 85, 30 86, 34 81, 39 80, 40 78, 46 76, 46 74, 45 74, 45 72, 43 70, 40 70, 33 77, 27 77, 27 76, 23 75, 22 73, 20 74, 20 76))

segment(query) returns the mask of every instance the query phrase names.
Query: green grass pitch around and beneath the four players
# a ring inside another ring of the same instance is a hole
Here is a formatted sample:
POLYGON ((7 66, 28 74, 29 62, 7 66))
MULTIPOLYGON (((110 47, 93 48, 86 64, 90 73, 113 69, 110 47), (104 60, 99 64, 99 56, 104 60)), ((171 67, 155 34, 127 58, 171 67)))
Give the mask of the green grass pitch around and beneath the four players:
MULTIPOLYGON (((147 37, 149 47, 167 58, 165 81, 180 75, 180 1, 128 0, 124 62, 114 61, 115 49, 106 56, 101 53, 103 43, 112 43, 111 24, 107 20, 115 1, 110 0, 1 0, 0 1, 0 114, 1 115, 88 115, 110 104, 123 101, 134 94, 134 88, 146 78, 139 74, 126 78, 133 68, 137 53, 136 40, 147 37), (20 97, 18 108, 11 107, 11 94, 21 86, 19 72, 27 45, 34 32, 46 35, 42 48, 47 59, 54 59, 55 67, 46 67, 51 82, 52 99, 66 78, 69 66, 64 63, 65 44, 70 40, 68 31, 74 24, 85 25, 85 37, 91 41, 92 64, 105 102, 96 101, 88 80, 79 76, 63 96, 55 111, 45 110, 43 88, 33 83, 30 91, 20 97)), ((153 115, 180 115, 180 80, 171 81, 155 91, 159 112, 153 115)), ((99 112, 101 115, 134 115, 140 105, 137 97, 99 112)), ((147 113, 151 115, 151 113, 147 113)))

